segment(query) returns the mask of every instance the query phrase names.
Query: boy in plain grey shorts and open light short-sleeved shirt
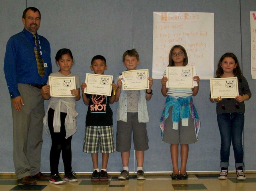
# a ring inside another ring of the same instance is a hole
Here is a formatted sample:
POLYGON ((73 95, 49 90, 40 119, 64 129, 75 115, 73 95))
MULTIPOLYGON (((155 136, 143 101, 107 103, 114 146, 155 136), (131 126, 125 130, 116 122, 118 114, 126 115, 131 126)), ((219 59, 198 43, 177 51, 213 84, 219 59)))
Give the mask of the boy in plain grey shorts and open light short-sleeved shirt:
MULTIPOLYGON (((136 49, 128 50, 123 54, 123 65, 127 71, 136 70, 140 64, 139 54, 136 49)), ((138 73, 138 75, 140 75, 138 73)), ((142 74, 143 75, 143 74, 142 74)), ((137 179, 144 180, 143 171, 144 151, 148 150, 148 135, 146 122, 149 122, 146 100, 152 97, 153 79, 148 78, 149 88, 147 90, 122 90, 122 80, 117 80, 118 88, 116 91, 116 111, 117 132, 116 132, 116 151, 121 152, 123 171, 118 175, 118 179, 129 177, 129 158, 131 149, 131 139, 133 133, 134 149, 137 159, 137 179)))

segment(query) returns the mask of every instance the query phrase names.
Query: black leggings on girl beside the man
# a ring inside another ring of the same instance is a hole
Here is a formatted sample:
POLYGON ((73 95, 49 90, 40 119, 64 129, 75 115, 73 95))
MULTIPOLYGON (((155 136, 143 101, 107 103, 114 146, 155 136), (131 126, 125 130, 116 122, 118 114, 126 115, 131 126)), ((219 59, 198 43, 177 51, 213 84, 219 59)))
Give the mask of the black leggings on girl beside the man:
POLYGON ((64 164, 65 173, 71 172, 72 152, 71 140, 72 136, 66 137, 65 118, 67 113, 60 112, 60 132, 55 133, 53 130, 53 116, 54 110, 52 108, 48 111, 48 126, 52 138, 52 147, 50 151, 50 168, 51 175, 58 173, 58 166, 60 161, 60 152, 62 151, 62 160, 64 164))

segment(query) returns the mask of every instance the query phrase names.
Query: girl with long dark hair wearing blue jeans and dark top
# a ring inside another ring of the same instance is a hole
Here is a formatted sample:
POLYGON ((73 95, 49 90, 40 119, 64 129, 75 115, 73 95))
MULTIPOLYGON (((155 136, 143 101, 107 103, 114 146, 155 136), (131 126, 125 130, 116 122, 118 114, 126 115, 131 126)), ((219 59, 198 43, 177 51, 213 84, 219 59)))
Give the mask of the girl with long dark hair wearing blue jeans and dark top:
MULTIPOLYGON (((233 53, 225 53, 218 62, 216 78, 237 77, 239 95, 235 98, 214 98, 210 101, 216 103, 217 121, 220 130, 220 176, 221 180, 227 179, 230 145, 232 142, 235 157, 236 175, 238 180, 245 180, 242 133, 244 129, 244 101, 252 94, 245 77, 239 66, 238 59, 233 53)), ((226 81, 232 87, 232 81, 226 81)))

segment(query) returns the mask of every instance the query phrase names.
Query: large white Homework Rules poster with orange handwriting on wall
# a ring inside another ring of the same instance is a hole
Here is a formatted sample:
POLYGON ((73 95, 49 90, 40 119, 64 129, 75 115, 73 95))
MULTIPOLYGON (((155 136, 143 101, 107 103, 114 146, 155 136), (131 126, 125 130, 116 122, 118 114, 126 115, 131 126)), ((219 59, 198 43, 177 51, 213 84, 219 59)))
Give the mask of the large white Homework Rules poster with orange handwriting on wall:
POLYGON ((170 49, 182 45, 188 65, 196 67, 200 79, 214 74, 214 14, 154 12, 152 77, 162 79, 169 64, 170 49))

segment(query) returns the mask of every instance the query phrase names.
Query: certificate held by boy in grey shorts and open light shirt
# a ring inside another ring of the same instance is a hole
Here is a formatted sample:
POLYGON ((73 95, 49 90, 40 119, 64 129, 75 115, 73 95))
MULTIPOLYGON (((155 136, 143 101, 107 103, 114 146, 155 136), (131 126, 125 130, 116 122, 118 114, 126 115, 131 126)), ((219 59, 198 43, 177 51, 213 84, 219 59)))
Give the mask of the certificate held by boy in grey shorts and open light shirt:
POLYGON ((149 89, 148 69, 125 71, 119 78, 123 78, 123 90, 149 89))

